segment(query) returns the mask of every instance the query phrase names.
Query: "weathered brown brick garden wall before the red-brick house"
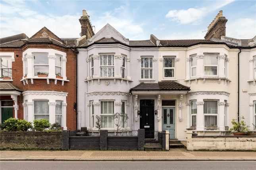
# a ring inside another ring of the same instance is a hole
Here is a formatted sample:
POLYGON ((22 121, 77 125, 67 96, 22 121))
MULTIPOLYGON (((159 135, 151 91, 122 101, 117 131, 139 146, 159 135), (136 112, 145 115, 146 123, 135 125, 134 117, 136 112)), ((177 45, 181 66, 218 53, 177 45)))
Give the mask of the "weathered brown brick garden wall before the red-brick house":
POLYGON ((1 149, 62 149, 62 132, 1 132, 1 149))

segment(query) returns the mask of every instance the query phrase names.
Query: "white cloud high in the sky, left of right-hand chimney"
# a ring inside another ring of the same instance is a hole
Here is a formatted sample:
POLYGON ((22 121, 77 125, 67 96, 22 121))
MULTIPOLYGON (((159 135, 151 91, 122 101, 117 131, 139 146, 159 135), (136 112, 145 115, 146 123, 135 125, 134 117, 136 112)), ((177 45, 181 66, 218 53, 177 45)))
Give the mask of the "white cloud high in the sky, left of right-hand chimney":
POLYGON ((189 9, 181 9, 181 10, 170 10, 166 14, 166 18, 169 18, 171 21, 177 21, 181 24, 189 24, 199 25, 202 22, 202 19, 210 12, 215 11, 227 4, 230 4, 233 0, 228 0, 225 2, 218 1, 214 2, 214 5, 206 6, 202 8, 189 8, 189 9))

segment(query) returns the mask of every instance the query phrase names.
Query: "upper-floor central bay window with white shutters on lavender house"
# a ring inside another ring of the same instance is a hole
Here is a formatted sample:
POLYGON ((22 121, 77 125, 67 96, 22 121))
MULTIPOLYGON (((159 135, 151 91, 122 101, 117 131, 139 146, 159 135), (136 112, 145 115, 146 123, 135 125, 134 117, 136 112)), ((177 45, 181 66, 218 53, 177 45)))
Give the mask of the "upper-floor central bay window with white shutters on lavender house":
POLYGON ((114 55, 100 55, 100 77, 114 77, 114 55))

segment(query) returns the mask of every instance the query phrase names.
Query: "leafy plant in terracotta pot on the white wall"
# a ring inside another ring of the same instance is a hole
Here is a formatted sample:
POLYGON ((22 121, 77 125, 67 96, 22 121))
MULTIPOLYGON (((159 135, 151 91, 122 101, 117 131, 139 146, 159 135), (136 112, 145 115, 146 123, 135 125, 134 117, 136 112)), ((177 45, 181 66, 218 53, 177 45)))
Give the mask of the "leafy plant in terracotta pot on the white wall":
POLYGON ((233 128, 230 128, 234 136, 244 136, 249 132, 249 126, 246 126, 244 117, 239 117, 240 122, 236 121, 237 119, 232 119, 231 123, 233 128))

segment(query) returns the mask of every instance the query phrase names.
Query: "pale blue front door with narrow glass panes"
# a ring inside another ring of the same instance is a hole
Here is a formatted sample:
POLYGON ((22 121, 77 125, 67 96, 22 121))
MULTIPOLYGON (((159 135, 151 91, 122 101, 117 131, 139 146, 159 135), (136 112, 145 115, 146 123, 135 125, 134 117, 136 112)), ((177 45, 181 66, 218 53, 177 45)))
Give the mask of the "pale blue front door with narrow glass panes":
POLYGON ((162 108, 162 130, 169 130, 170 139, 175 138, 175 108, 162 108))

